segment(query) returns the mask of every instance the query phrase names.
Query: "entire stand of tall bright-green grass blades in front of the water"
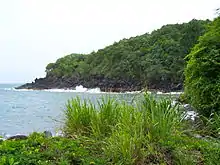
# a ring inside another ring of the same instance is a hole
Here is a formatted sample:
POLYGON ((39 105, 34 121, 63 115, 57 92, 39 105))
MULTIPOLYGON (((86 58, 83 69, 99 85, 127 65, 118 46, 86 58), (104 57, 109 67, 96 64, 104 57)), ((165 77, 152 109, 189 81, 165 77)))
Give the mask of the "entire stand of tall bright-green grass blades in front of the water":
POLYGON ((71 100, 65 110, 64 132, 103 141, 103 151, 113 163, 137 164, 154 154, 154 144, 179 136, 183 126, 178 106, 145 94, 135 106, 114 99, 103 99, 97 107, 71 100))

